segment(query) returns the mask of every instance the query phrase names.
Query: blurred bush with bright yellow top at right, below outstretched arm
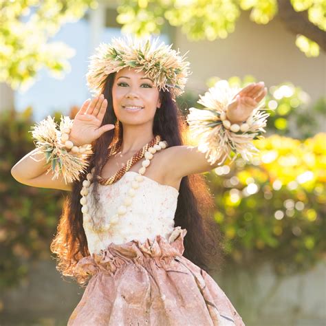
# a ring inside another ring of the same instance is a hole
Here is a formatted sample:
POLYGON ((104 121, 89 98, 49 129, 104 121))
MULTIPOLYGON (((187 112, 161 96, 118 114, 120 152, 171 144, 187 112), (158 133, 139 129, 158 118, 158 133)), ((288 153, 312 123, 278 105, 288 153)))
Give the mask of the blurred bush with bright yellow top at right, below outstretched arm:
POLYGON ((230 261, 270 261, 276 273, 292 274, 325 259, 325 139, 254 140, 260 152, 251 164, 239 158, 208 173, 230 261))

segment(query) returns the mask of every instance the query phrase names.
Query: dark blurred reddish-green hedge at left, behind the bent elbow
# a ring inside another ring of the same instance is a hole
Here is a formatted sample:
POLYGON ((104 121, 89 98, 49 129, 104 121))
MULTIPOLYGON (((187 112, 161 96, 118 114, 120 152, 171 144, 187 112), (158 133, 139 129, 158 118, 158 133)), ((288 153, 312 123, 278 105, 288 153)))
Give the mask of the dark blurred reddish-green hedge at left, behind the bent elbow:
POLYGON ((25 281, 30 261, 50 258, 63 192, 20 184, 10 169, 35 148, 32 109, 0 116, 0 289, 25 281))

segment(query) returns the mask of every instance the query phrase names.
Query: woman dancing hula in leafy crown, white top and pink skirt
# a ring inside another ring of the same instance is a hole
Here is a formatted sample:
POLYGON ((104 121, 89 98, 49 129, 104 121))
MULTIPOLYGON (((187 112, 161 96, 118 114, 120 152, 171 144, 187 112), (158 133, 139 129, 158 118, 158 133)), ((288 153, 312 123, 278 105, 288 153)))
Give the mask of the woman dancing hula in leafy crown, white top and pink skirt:
MULTIPOLYGON (((81 180, 53 178, 41 146, 12 168, 23 184, 72 191, 51 248, 64 275, 91 279, 68 325, 244 325, 205 271, 211 252, 205 203, 197 201, 202 180, 188 176, 214 169, 228 150, 211 164, 207 153, 182 145, 175 97, 188 63, 149 41, 118 39, 96 51, 87 80, 98 96, 70 128, 61 126, 68 152, 92 145, 86 177, 80 169, 81 180)), ((263 83, 248 85, 226 117, 245 121, 265 94, 263 83)))

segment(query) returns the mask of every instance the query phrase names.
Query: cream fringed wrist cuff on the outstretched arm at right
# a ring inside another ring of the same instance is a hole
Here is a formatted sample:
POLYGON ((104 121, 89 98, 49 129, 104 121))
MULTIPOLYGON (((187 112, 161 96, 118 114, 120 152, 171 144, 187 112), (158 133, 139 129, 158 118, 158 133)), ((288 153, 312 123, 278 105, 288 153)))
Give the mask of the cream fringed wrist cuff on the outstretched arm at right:
POLYGON ((230 151, 236 154, 232 161, 238 153, 247 161, 257 155, 258 149, 252 144, 252 140, 263 138, 261 133, 265 132, 263 127, 270 116, 270 113, 259 111, 265 110, 263 102, 259 103, 246 120, 246 131, 233 132, 222 123, 221 115, 225 115, 228 105, 239 91, 239 87, 230 87, 227 80, 219 80, 204 96, 199 96, 198 103, 204 109, 189 109, 187 121, 190 131, 197 138, 199 151, 206 153, 210 164, 220 159, 221 165, 227 157, 231 159, 230 151))

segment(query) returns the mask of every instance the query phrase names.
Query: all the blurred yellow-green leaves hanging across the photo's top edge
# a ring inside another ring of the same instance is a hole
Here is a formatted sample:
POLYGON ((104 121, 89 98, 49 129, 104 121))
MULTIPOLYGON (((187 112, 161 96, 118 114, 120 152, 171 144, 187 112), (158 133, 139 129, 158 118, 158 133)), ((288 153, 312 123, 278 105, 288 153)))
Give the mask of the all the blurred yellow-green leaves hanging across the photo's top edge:
MULTIPOLYGON (((267 24, 276 16, 277 0, 120 0, 117 21, 124 32, 143 36, 159 34, 164 25, 180 27, 191 41, 226 39, 235 31, 241 10, 251 10, 250 19, 267 24)), ((292 0, 296 12, 307 10, 309 22, 326 30, 325 1, 292 0)), ((115 5, 113 5, 115 6, 115 5)), ((47 68, 61 78, 70 69, 75 52, 52 36, 68 22, 78 21, 96 0, 2 0, 0 1, 0 83, 12 89, 28 89, 36 74, 47 68)), ((318 56, 319 45, 296 35, 296 46, 306 56, 318 56)))

